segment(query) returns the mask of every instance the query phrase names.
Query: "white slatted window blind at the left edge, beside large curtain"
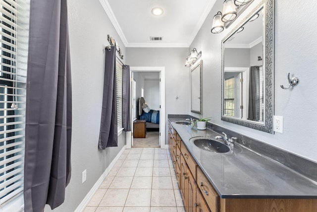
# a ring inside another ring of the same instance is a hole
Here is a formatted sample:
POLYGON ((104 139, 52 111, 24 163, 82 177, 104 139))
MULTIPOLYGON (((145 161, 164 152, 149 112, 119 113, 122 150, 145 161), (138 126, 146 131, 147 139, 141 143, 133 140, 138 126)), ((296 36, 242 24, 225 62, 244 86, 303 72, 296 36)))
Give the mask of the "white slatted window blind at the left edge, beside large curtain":
POLYGON ((0 0, 0 206, 23 191, 29 8, 0 0))

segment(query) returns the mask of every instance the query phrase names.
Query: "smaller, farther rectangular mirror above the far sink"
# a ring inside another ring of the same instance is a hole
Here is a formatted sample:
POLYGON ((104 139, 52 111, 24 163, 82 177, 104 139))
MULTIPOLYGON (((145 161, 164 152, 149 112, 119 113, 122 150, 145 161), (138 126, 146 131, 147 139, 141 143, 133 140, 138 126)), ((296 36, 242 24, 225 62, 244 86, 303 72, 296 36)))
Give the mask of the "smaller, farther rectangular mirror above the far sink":
POLYGON ((203 113, 203 61, 191 69, 191 112, 203 113))

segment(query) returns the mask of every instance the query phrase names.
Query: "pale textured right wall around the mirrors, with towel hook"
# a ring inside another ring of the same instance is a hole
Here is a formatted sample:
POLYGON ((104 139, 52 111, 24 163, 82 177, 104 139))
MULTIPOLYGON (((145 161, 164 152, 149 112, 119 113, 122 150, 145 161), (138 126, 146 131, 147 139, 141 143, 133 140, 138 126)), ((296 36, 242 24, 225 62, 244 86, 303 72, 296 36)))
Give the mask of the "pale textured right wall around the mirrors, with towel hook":
POLYGON ((211 34, 212 17, 222 5, 223 0, 216 1, 191 44, 203 53, 204 116, 212 116, 211 122, 217 125, 317 161, 317 16, 311 15, 317 1, 294 4, 275 0, 274 108, 275 115, 284 117, 284 133, 275 135, 221 121, 221 40, 239 22, 236 20, 222 33, 211 34), (287 72, 299 77, 300 83, 283 90, 280 85, 287 85, 287 72))

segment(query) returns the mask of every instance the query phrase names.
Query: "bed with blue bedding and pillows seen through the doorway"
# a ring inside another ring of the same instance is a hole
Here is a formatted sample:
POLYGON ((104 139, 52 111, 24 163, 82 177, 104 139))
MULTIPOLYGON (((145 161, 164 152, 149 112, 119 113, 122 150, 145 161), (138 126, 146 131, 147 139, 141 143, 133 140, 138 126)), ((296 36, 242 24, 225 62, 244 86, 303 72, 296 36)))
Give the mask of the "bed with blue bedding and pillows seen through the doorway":
POLYGON ((139 99, 139 119, 146 121, 147 129, 159 129, 159 110, 151 110, 145 99, 139 99))

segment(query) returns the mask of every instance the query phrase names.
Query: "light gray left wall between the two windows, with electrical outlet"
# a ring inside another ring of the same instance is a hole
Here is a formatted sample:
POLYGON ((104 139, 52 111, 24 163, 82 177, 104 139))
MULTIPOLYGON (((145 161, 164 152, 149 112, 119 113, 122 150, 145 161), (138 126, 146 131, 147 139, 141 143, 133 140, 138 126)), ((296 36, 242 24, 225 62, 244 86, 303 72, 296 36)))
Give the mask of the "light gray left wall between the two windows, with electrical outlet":
MULTIPOLYGON (((98 149, 104 83, 107 34, 114 37, 126 55, 124 45, 98 0, 68 0, 68 20, 73 91, 72 176, 66 188, 65 202, 54 212, 73 212, 94 186, 107 166, 125 145, 98 149), (82 172, 87 181, 82 184, 82 172)), ((51 211, 46 207, 47 212, 51 211)))

